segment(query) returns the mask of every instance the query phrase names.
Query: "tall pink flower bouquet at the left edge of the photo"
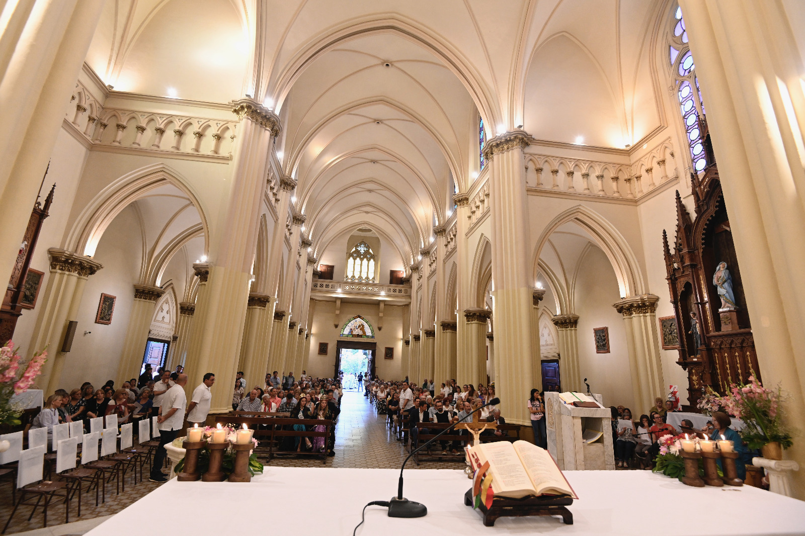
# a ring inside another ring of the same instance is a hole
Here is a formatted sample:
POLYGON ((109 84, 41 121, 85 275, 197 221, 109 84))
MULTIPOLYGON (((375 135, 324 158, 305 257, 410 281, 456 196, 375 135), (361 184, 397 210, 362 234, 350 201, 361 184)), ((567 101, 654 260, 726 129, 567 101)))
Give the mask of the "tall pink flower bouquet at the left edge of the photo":
POLYGON ((11 402, 11 397, 26 392, 34 385, 46 359, 47 351, 43 350, 23 364, 13 340, 0 348, 0 424, 19 425, 19 416, 25 407, 11 402))

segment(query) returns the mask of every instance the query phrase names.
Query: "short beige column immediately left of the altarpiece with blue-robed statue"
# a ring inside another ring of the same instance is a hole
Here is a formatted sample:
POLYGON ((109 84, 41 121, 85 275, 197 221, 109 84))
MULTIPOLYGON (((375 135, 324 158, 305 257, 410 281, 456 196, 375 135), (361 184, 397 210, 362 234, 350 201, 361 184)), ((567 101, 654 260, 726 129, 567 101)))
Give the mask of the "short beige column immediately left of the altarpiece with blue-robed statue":
POLYGON ((662 397, 667 389, 659 357, 657 317, 654 315, 658 301, 658 296, 645 294, 631 296, 613 306, 623 315, 634 402, 643 408, 653 406, 654 398, 662 397))

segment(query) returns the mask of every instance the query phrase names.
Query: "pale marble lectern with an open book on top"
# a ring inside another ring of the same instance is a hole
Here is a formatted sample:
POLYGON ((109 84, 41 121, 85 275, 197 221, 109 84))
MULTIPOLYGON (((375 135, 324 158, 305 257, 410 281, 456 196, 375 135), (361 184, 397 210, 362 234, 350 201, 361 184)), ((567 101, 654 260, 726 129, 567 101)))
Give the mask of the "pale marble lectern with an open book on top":
MULTIPOLYGON (((559 393, 543 394, 548 451, 559 469, 614 471, 615 453, 610 424, 612 414, 609 408, 568 406, 559 398, 559 393), (582 435, 585 430, 601 431, 603 434, 591 443, 584 443, 582 435)), ((600 394, 593 394, 592 398, 602 404, 600 394)))

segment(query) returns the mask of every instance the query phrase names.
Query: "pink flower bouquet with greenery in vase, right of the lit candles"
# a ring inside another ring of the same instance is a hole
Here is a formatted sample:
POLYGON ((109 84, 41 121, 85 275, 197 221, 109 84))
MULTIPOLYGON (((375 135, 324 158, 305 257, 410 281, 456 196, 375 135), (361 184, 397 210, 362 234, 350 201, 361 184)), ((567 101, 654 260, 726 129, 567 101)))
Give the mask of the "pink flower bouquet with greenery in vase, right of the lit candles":
POLYGON ((783 423, 782 391, 762 386, 754 375, 748 384, 732 384, 729 393, 720 399, 726 412, 740 418, 745 427, 738 431, 750 449, 762 448, 769 443, 791 447, 791 431, 783 423))

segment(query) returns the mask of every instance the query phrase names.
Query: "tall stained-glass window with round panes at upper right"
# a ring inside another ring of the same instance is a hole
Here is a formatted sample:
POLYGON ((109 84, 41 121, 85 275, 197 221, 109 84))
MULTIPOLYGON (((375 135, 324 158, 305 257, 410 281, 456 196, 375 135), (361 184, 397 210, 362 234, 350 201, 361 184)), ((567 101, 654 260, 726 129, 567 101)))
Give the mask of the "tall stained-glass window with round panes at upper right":
POLYGON ((702 171, 708 164, 698 121, 700 114, 704 116, 704 105, 691 47, 687 44, 687 30, 681 7, 676 8, 671 23, 674 26, 668 41, 668 60, 674 77, 676 98, 679 100, 679 111, 685 124, 687 143, 691 148, 693 167, 696 171, 702 171))

